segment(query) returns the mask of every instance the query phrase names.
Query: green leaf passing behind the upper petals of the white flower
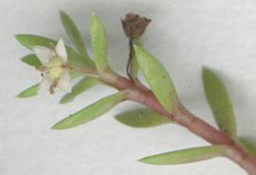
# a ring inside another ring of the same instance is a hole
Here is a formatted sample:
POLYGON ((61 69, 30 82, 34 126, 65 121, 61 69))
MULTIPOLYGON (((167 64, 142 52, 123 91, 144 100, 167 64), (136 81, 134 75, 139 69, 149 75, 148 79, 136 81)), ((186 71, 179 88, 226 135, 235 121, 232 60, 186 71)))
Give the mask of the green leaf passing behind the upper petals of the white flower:
MULTIPOLYGON (((57 41, 31 34, 18 34, 15 36, 17 41, 32 50, 35 45, 43 45, 49 48, 55 47, 57 41)), ((68 63, 75 66, 94 66, 94 62, 91 60, 83 59, 81 54, 78 54, 72 47, 66 46, 66 52, 68 57, 68 63)))

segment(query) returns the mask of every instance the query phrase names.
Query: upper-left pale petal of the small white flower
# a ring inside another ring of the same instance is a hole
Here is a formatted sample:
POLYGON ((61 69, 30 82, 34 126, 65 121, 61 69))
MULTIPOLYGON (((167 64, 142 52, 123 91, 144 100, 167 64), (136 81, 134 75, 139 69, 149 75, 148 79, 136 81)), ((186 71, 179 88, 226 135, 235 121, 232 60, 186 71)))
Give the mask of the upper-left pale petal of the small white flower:
POLYGON ((43 64, 54 56, 53 50, 42 45, 33 46, 33 52, 43 64))

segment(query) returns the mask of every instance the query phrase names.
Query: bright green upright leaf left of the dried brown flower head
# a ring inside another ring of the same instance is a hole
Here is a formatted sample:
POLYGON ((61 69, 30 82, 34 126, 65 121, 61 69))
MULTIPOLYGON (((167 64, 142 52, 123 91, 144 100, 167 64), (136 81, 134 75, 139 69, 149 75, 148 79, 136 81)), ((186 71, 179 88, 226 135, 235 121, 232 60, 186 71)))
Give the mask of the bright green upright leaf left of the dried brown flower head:
POLYGON ((108 68, 106 31, 98 15, 91 17, 91 43, 96 67, 101 74, 108 68))

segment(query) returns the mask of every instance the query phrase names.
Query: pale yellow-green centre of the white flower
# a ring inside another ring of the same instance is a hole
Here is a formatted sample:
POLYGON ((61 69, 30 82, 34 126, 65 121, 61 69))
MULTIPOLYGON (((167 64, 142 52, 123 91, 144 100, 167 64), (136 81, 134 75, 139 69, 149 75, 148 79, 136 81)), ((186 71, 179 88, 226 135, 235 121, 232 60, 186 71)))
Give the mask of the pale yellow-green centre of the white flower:
POLYGON ((64 60, 53 57, 46 63, 46 72, 51 79, 60 79, 64 75, 64 60))

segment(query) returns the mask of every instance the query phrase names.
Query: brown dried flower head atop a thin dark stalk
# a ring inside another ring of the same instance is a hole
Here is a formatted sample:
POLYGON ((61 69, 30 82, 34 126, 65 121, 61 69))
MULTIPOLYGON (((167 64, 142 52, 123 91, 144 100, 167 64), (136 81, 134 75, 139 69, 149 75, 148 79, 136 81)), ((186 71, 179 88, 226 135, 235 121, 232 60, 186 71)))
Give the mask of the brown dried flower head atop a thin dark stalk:
POLYGON ((129 12, 125 19, 121 20, 125 35, 130 39, 137 39, 145 31, 151 19, 140 17, 136 13, 129 12))

